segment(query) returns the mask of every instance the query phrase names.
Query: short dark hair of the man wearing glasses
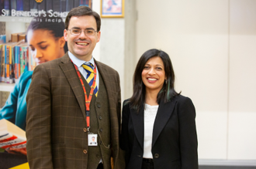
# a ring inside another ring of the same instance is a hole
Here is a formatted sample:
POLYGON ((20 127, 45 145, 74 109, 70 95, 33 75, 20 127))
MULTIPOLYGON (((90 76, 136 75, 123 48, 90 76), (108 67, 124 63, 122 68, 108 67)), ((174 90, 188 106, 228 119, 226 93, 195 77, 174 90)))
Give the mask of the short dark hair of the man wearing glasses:
POLYGON ((78 6, 76 8, 72 8, 71 11, 68 12, 67 14, 66 21, 65 21, 65 29, 68 28, 68 25, 72 16, 85 16, 85 15, 92 15, 95 18, 96 24, 97 24, 97 32, 99 32, 100 25, 101 25, 100 16, 97 12, 92 11, 92 9, 89 8, 88 6, 78 6))

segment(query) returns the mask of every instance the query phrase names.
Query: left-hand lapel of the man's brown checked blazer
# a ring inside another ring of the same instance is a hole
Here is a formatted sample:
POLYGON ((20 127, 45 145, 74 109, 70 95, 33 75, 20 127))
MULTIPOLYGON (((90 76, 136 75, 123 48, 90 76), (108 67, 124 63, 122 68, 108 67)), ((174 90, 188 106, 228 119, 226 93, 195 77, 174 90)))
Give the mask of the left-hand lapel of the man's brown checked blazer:
POLYGON ((74 96, 78 100, 81 112, 83 113, 83 116, 85 118, 85 95, 83 90, 81 89, 81 83, 78 79, 78 74, 76 73, 74 64, 71 62, 71 59, 69 58, 67 53, 61 58, 60 67, 64 75, 66 76, 67 81, 71 86, 71 89, 74 92, 74 96))

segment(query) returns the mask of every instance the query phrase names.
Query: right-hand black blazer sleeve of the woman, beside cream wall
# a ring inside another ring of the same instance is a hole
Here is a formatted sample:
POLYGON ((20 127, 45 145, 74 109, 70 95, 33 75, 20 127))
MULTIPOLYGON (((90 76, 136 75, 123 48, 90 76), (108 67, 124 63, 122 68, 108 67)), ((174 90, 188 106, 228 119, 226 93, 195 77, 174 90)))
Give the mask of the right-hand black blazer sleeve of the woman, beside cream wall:
POLYGON ((198 169, 195 106, 188 97, 178 103, 179 140, 182 169, 198 169))

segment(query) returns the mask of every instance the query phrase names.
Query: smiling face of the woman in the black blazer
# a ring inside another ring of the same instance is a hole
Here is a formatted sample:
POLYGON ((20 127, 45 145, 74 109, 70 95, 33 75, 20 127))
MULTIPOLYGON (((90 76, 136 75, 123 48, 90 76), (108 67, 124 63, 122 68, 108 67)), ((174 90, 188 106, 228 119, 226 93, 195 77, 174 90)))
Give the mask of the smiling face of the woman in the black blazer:
POLYGON ((141 78, 146 86, 146 92, 161 90, 164 85, 165 72, 164 63, 159 56, 154 56, 147 60, 141 73, 141 78))

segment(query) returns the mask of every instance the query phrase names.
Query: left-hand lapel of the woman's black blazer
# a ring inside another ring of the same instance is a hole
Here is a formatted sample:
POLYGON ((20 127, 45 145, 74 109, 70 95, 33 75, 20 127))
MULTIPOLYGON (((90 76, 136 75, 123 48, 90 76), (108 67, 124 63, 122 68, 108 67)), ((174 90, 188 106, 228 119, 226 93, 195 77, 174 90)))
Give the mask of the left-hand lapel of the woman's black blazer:
POLYGON ((144 106, 141 105, 139 113, 136 110, 130 109, 130 117, 133 120, 133 129, 138 142, 144 149, 144 106))

